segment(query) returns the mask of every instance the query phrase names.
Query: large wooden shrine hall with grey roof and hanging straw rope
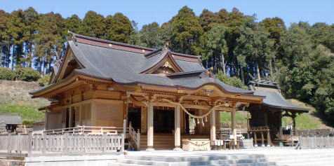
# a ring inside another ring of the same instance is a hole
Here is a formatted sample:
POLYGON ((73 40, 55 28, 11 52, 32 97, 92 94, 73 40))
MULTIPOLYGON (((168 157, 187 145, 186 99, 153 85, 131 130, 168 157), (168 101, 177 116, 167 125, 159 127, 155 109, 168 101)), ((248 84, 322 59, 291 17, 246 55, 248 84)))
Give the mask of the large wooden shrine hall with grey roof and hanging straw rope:
POLYGON ((232 116, 264 97, 222 83, 199 57, 72 33, 50 85, 31 92, 51 101, 46 130, 123 127, 137 149, 178 149, 182 139, 216 139, 220 111, 232 116))

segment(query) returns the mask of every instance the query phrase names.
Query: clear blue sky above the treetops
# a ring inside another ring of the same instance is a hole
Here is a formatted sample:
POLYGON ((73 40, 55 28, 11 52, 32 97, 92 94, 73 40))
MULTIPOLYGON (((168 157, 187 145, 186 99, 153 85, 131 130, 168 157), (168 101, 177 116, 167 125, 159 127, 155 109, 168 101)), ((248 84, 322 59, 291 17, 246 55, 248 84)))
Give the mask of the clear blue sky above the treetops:
POLYGON ((204 8, 219 11, 233 7, 247 15, 256 14, 258 20, 268 17, 283 18, 286 25, 290 22, 305 21, 334 23, 334 0, 205 0, 205 1, 145 1, 145 0, 0 0, 0 9, 11 12, 18 8, 32 6, 39 13, 53 11, 69 17, 72 14, 83 18, 86 11, 96 11, 102 15, 113 15, 121 12, 131 20, 138 22, 138 27, 150 22, 167 22, 178 13, 182 6, 189 6, 199 15, 204 8))

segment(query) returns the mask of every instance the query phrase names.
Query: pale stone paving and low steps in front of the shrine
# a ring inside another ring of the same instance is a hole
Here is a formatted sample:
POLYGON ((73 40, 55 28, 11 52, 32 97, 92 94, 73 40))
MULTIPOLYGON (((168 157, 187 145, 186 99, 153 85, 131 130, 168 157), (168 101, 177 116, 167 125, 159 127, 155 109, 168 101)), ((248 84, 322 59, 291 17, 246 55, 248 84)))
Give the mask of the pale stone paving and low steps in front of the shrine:
POLYGON ((224 165, 224 166, 326 166, 334 165, 334 148, 302 149, 259 147, 226 151, 129 151, 110 166, 224 165))

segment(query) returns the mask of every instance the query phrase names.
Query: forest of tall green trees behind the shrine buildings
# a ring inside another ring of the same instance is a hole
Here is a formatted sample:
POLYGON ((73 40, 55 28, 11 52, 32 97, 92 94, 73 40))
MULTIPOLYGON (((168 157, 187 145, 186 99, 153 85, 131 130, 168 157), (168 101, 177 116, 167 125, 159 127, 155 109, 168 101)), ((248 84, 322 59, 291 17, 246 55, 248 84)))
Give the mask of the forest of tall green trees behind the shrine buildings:
POLYGON ((34 8, 0 10, 0 67, 32 67, 49 74, 65 53, 68 30, 151 48, 168 42, 171 50, 201 56, 204 67, 220 78, 233 76, 240 86, 254 78, 277 81, 286 97, 312 104, 334 120, 334 25, 297 22, 286 27, 281 18, 259 21, 236 8, 195 15, 185 6, 162 25, 152 22, 138 29, 122 13, 105 17, 88 11, 81 19, 34 8))

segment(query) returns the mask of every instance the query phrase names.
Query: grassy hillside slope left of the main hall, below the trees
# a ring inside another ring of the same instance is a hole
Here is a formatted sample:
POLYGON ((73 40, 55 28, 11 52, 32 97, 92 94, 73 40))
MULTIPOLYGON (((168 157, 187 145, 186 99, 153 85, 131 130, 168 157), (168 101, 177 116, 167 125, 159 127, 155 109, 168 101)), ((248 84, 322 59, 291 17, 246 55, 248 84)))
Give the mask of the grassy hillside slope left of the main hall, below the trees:
POLYGON ((38 83, 0 80, 0 113, 22 116, 24 123, 44 120, 44 113, 38 111, 46 106, 46 99, 32 99, 29 92, 41 88, 38 83))

